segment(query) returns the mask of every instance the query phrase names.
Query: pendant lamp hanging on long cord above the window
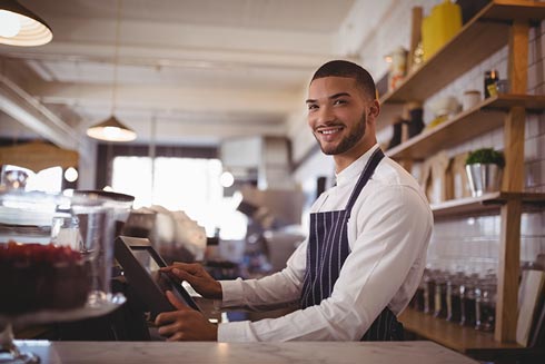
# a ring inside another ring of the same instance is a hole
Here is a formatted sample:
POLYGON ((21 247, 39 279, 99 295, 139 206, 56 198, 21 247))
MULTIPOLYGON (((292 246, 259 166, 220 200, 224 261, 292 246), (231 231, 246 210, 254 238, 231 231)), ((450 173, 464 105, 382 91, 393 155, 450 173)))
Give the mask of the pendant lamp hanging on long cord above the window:
POLYGON ((111 116, 89 129, 87 135, 91 138, 106 141, 131 141, 137 138, 137 134, 116 118, 116 89, 117 89, 117 63, 119 58, 119 33, 121 18, 121 0, 118 0, 117 23, 116 23, 116 50, 113 56, 113 85, 111 89, 111 116))

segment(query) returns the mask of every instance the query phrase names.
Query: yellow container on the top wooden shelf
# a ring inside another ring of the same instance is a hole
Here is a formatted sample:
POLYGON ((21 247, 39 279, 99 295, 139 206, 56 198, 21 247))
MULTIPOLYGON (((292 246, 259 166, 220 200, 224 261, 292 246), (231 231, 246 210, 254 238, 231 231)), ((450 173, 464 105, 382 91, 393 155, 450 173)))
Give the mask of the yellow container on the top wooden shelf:
POLYGON ((424 60, 428 60, 437 50, 462 29, 462 8, 445 0, 435 6, 422 23, 422 45, 424 60))

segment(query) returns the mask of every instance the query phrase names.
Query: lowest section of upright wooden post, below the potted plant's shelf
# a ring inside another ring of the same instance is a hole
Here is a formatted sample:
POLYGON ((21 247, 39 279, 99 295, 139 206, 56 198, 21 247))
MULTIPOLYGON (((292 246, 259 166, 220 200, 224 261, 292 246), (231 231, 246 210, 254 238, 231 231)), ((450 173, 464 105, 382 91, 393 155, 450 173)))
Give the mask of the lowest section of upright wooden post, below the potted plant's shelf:
POLYGON ((494 337, 502 343, 515 342, 517 323, 518 274, 521 267, 522 203, 509 199, 502 206, 496 329, 494 337))

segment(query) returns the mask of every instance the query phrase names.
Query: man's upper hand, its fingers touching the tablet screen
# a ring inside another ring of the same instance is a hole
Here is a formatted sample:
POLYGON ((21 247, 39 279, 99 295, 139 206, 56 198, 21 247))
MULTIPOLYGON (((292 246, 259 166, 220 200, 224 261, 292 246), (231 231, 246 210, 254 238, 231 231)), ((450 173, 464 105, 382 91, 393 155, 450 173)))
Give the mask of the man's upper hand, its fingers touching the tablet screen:
POLYGON ((202 297, 221 299, 221 285, 214 279, 198 263, 175 263, 161 268, 161 272, 171 274, 180 281, 187 281, 202 297))

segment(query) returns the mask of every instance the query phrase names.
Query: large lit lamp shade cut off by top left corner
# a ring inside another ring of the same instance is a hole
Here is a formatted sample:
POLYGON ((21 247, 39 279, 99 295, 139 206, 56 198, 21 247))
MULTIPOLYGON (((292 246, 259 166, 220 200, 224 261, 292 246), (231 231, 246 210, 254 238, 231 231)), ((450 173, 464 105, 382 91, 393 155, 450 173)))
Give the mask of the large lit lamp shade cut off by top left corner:
POLYGON ((49 43, 51 28, 17 0, 0 0, 0 43, 32 47, 49 43))

